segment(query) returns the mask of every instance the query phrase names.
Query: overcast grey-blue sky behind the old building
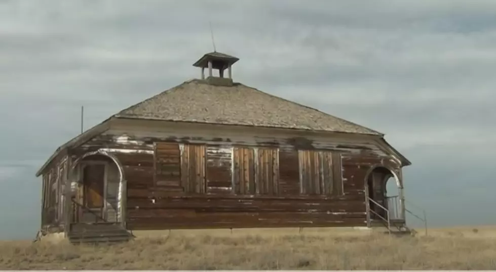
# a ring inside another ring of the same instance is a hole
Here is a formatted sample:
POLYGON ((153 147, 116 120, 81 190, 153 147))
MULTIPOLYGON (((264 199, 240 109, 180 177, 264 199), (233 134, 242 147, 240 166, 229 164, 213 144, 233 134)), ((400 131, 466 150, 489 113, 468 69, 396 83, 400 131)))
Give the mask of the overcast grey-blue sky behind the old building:
POLYGON ((81 105, 89 128, 199 77, 209 21, 235 81, 385 133, 430 225, 496 223, 496 1, 1 0, 0 239, 34 238, 81 105))

